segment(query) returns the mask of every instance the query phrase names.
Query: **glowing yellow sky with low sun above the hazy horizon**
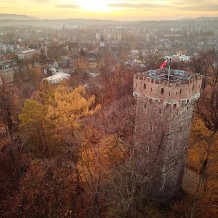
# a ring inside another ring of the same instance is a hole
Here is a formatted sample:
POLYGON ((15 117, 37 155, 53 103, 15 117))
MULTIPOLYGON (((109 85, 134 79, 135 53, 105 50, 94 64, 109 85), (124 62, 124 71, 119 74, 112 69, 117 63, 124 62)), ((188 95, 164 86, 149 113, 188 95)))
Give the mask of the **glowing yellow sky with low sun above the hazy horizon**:
POLYGON ((0 13, 51 19, 163 20, 218 16, 218 0, 0 0, 0 13))

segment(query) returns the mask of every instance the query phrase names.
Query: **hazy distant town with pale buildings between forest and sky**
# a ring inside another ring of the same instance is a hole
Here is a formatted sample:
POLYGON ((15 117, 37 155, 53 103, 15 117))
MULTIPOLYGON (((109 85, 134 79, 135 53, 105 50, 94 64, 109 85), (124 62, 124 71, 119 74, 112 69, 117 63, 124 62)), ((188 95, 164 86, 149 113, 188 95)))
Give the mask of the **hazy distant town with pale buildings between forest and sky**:
POLYGON ((57 83, 75 70, 96 76, 106 65, 111 69, 125 65, 140 72, 150 67, 151 56, 182 63, 201 51, 218 51, 217 18, 135 22, 4 18, 0 21, 0 74, 8 82, 27 60, 44 72, 42 79, 57 83))

